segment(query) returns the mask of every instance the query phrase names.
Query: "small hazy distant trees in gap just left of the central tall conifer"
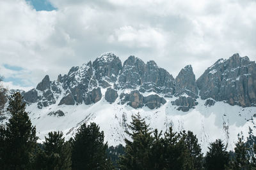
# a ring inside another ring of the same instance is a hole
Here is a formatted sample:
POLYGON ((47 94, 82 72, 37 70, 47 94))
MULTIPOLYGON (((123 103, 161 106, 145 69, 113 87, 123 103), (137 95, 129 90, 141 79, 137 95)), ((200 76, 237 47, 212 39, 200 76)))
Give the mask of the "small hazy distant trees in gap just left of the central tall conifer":
POLYGON ((117 146, 110 146, 107 149, 107 155, 113 162, 113 166, 117 169, 118 161, 120 160, 120 156, 124 155, 124 146, 119 144, 117 146))

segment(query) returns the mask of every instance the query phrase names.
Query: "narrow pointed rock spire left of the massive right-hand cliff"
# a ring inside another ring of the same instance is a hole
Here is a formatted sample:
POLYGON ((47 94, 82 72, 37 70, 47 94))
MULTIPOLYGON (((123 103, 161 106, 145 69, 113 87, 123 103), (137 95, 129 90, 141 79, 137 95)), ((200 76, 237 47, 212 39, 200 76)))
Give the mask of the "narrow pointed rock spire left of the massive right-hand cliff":
POLYGON ((181 69, 178 76, 175 78, 175 96, 180 96, 180 94, 188 94, 188 96, 197 97, 198 90, 196 85, 195 74, 191 65, 188 65, 181 69))

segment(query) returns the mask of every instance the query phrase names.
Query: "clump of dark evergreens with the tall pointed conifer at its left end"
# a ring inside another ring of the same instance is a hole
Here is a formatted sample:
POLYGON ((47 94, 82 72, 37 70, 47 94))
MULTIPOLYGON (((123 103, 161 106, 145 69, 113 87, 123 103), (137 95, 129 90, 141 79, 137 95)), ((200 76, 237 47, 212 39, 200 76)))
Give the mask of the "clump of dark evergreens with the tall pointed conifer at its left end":
POLYGON ((132 115, 127 132, 132 140, 125 139, 125 154, 120 169, 199 169, 202 153, 191 132, 177 134, 172 127, 164 133, 150 131, 140 114, 132 115), (191 146, 186 146, 187 144, 191 146), (191 151, 191 153, 189 153, 191 151))

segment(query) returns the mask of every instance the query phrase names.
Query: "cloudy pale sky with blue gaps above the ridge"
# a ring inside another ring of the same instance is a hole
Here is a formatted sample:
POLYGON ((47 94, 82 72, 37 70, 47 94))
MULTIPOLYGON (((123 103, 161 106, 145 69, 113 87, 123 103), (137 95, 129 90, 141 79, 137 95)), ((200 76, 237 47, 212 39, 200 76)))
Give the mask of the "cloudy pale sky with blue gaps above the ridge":
POLYGON ((256 60, 256 0, 0 1, 0 74, 29 89, 104 52, 196 78, 233 53, 256 60))

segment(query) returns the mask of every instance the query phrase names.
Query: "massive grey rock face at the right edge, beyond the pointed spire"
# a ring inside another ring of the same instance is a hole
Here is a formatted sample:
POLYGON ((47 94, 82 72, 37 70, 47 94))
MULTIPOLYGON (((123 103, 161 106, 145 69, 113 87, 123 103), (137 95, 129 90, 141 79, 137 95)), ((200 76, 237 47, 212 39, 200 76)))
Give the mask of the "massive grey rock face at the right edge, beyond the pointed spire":
POLYGON ((196 81, 202 99, 248 107, 256 106, 256 66, 248 57, 236 53, 227 60, 220 59, 196 81))

